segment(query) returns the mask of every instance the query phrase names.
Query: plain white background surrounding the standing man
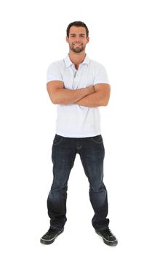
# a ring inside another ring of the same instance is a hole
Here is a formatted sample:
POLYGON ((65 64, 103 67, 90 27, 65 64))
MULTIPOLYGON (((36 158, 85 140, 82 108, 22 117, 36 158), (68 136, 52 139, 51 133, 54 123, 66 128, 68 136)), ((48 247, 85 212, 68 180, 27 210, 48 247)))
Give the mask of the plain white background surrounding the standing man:
POLYGON ((159 255, 159 1, 1 1, 1 255, 159 255), (68 181, 68 222, 49 246, 47 195, 56 106, 47 67, 68 53, 65 31, 82 20, 86 52, 102 63, 111 99, 100 107, 110 247, 95 233, 80 157, 68 181))

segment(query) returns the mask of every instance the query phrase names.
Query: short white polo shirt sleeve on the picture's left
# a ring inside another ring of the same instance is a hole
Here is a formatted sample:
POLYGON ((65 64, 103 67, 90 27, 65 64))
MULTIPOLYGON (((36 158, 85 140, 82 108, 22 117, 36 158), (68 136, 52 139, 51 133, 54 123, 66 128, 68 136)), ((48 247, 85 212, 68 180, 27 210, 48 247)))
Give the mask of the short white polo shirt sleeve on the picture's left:
POLYGON ((53 80, 63 81, 63 77, 60 72, 60 66, 57 63, 52 63, 47 69, 47 83, 53 80))

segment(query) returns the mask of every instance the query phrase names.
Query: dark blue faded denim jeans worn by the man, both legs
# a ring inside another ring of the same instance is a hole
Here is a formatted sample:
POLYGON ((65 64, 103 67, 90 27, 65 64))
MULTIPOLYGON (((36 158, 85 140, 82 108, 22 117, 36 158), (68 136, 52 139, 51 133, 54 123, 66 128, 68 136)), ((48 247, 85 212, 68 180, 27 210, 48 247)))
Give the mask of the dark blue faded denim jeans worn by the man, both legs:
POLYGON ((103 184, 105 148, 102 135, 87 138, 67 138, 55 135, 52 145, 53 182, 47 198, 50 227, 60 230, 66 218, 68 178, 76 158, 80 155, 89 181, 89 199, 95 212, 92 225, 104 230, 109 225, 107 190, 103 184))

